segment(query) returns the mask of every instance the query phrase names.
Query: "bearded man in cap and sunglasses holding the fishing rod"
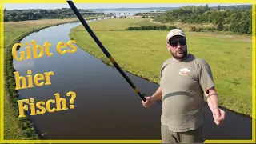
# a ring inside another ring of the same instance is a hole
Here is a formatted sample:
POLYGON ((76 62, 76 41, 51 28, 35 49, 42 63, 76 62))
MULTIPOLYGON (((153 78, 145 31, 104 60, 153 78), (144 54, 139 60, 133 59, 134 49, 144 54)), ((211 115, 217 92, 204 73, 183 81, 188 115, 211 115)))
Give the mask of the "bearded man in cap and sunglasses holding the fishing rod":
POLYGON ((186 35, 182 30, 170 30, 166 38, 173 57, 163 62, 160 86, 142 105, 148 108, 162 100, 162 143, 204 142, 204 94, 214 122, 220 125, 225 118, 225 112, 218 108, 210 66, 204 59, 187 54, 186 35))

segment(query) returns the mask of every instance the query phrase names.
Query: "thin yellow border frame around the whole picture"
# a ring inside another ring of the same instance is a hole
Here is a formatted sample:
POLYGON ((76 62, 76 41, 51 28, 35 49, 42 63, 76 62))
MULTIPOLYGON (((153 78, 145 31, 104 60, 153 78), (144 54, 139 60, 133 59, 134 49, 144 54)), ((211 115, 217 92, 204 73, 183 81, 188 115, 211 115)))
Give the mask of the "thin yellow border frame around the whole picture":
MULTIPOLYGON (((154 3, 153 1, 148 0, 98 0, 84 2, 82 0, 74 0, 74 3, 154 3)), ((243 0, 241 2, 234 2, 234 0, 197 0, 197 1, 189 1, 185 0, 183 3, 250 3, 252 4, 252 139, 251 140, 206 140, 206 143, 255 143, 255 0, 243 0)), ((36 2, 33 0, 0 0, 0 12, 3 14, 4 10, 4 3, 66 3, 66 0, 45 0, 42 2, 36 2)), ((158 0, 155 3, 182 3, 182 2, 170 2, 167 0, 158 0)), ((3 126, 3 96, 4 96, 4 49, 3 49, 3 15, 0 18, 0 143, 161 143, 161 140, 4 140, 3 133, 4 133, 4 126, 3 126)))

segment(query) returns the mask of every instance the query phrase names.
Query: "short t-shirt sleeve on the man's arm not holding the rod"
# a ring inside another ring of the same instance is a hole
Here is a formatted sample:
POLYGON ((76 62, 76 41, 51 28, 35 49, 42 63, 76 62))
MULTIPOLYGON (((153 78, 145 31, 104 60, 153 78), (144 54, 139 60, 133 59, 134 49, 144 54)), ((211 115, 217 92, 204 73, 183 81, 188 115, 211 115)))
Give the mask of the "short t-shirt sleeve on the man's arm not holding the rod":
POLYGON ((208 63, 204 64, 200 70, 199 82, 202 90, 209 90, 211 87, 215 86, 214 77, 208 63))

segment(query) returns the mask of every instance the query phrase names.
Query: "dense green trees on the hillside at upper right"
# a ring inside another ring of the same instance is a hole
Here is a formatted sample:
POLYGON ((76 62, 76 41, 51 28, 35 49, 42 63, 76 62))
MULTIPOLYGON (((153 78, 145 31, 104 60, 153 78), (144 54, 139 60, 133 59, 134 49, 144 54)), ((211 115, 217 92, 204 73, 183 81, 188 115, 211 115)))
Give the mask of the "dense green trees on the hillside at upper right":
POLYGON ((154 17, 156 22, 183 22, 191 24, 212 23, 214 30, 229 30, 239 34, 252 34, 252 11, 250 9, 211 10, 206 6, 184 6, 154 17))

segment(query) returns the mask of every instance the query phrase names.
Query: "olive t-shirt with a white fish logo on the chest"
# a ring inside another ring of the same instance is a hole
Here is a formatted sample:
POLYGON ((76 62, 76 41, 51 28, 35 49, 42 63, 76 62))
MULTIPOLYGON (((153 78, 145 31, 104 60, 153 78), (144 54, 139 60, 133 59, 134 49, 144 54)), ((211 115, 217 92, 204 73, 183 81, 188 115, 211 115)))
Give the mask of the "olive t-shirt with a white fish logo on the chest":
POLYGON ((161 122, 174 132, 195 130, 202 126, 204 91, 214 86, 208 63, 187 54, 182 62, 169 58, 160 72, 162 87, 161 122))

